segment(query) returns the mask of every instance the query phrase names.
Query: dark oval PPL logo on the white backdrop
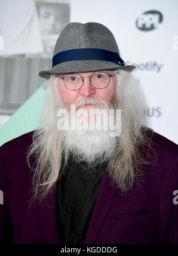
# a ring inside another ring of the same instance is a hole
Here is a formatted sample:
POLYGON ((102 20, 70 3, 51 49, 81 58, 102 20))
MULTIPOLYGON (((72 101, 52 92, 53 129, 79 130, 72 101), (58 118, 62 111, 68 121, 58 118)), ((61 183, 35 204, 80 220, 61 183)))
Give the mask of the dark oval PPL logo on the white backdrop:
POLYGON ((142 31, 157 29, 163 21, 163 14, 159 11, 145 11, 136 20, 136 27, 142 31))

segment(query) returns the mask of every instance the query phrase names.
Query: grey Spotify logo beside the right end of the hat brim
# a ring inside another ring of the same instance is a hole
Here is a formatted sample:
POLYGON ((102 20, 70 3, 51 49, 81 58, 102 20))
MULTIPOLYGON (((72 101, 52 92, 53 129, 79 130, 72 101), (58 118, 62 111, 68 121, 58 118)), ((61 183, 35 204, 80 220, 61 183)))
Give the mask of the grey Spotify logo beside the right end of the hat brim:
POLYGON ((132 63, 127 61, 125 65, 134 65, 139 71, 155 71, 160 72, 164 64, 158 64, 156 61, 132 63))

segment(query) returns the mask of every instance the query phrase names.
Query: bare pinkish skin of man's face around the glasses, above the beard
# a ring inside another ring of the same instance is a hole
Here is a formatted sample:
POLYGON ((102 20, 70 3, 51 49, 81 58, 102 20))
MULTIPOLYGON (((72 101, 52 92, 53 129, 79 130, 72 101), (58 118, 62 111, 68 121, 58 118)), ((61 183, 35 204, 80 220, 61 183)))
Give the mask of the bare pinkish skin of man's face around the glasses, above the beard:
MULTIPOLYGON (((95 71, 96 72, 96 71, 95 71)), ((95 72, 81 72, 77 73, 81 75, 81 77, 91 77, 95 72)), ((107 74, 115 74, 115 70, 105 70, 107 74)), ((58 74, 63 77, 65 74, 58 74)), ((58 90, 61 95, 62 102, 65 103, 66 106, 70 106, 75 104, 77 100, 82 99, 83 97, 92 97, 93 99, 104 100, 107 103, 110 103, 113 97, 116 95, 117 91, 117 76, 113 75, 110 77, 109 85, 104 89, 95 89, 91 86, 90 78, 84 78, 84 83, 79 90, 71 91, 66 89, 63 84, 63 80, 59 78, 58 80, 58 90)), ((94 105, 86 104, 82 107, 83 109, 94 108, 94 105)), ((100 109, 100 106, 98 106, 100 109)))

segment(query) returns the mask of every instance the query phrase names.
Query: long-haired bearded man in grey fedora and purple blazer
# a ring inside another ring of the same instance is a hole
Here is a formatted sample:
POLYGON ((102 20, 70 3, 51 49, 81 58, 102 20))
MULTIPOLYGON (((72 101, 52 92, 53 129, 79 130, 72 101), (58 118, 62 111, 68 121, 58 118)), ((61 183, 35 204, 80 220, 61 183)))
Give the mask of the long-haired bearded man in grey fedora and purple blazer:
POLYGON ((63 29, 52 69, 39 73, 41 127, 0 148, 2 241, 13 232, 15 244, 178 242, 177 145, 144 127, 134 68, 103 25, 63 29))

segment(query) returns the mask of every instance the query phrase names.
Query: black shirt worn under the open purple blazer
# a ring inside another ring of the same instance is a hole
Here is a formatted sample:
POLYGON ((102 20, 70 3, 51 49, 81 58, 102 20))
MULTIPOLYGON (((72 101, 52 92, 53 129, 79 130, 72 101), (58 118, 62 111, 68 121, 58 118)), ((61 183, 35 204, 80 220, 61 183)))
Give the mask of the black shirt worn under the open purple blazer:
POLYGON ((58 181, 57 220, 62 244, 83 244, 107 163, 90 169, 69 157, 58 181))

